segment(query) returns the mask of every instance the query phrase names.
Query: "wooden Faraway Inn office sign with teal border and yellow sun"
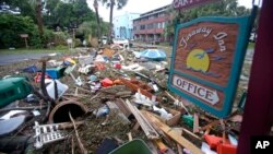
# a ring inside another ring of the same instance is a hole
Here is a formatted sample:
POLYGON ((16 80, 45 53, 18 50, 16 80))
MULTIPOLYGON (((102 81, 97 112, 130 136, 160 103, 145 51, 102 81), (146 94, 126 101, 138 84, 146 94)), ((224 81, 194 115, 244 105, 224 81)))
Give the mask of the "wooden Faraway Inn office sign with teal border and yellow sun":
POLYGON ((201 17, 177 25, 168 87, 217 117, 230 112, 250 17, 201 17))

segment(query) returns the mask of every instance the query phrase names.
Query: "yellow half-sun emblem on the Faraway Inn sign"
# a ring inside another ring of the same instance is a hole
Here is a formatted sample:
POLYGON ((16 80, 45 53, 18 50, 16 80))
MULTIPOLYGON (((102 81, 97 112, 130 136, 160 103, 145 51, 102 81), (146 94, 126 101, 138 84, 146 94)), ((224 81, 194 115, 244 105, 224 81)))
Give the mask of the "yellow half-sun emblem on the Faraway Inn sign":
POLYGON ((206 72, 210 67, 210 57, 202 49, 193 49, 187 57, 187 68, 206 72))

